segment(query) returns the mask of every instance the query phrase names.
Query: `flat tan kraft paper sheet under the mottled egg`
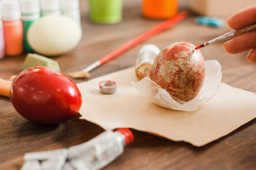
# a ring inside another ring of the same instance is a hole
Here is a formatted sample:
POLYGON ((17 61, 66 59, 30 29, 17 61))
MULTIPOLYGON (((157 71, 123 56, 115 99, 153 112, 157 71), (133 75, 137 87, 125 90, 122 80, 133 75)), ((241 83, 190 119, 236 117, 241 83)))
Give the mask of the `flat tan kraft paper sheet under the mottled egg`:
POLYGON ((131 82, 137 82, 134 67, 77 84, 82 94, 80 118, 105 130, 132 128, 203 146, 256 117, 255 94, 228 84, 221 83, 212 100, 196 111, 186 112, 152 103, 131 82), (115 80, 117 92, 101 94, 98 83, 102 80, 115 80))

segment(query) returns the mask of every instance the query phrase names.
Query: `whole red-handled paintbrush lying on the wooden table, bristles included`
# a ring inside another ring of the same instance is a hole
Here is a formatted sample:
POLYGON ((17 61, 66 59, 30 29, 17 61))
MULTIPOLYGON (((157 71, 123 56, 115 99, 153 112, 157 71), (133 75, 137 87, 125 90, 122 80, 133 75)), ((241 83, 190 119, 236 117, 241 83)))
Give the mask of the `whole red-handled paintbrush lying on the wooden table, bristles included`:
POLYGON ((175 15, 173 18, 170 18, 170 19, 164 21, 163 23, 156 25, 155 27, 142 33, 141 35, 135 37, 134 39, 131 39, 130 41, 126 42, 125 44, 119 46, 117 49, 114 49, 112 52, 106 54, 104 57, 102 57, 98 61, 92 63, 85 69, 83 69, 81 71, 75 71, 73 73, 69 73, 68 75, 71 76, 72 78, 87 78, 90 76, 89 71, 93 70, 97 66, 100 66, 103 63, 110 61, 110 59, 117 57, 119 54, 125 52, 126 50, 132 48, 133 46, 141 43, 144 40, 147 40, 148 38, 156 35, 157 33, 161 32, 161 31, 164 31, 164 29, 167 29, 167 28, 171 27, 172 25, 176 24, 177 22, 180 22, 187 16, 188 16, 188 11, 182 11, 179 14, 175 15))

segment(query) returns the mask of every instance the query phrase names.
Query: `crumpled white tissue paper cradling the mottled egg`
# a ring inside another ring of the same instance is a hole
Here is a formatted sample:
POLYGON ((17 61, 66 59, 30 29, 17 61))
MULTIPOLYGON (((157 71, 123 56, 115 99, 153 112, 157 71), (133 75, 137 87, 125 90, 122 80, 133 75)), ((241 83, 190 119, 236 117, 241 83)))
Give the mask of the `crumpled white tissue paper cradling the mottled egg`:
POLYGON ((146 77, 137 83, 131 82, 139 93, 151 100, 153 103, 164 108, 178 111, 195 111, 199 105, 211 100, 221 84, 221 65, 216 60, 205 61, 205 79, 199 94, 195 99, 188 102, 181 101, 158 86, 150 78, 146 77))

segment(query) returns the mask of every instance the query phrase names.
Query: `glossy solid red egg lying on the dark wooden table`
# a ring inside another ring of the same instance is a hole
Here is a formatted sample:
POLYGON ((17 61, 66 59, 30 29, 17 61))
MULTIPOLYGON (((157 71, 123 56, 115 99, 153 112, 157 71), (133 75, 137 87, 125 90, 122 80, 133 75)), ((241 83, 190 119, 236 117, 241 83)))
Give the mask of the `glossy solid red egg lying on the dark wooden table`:
POLYGON ((44 125, 71 119, 82 104, 76 84, 49 67, 31 67, 20 72, 13 81, 10 97, 21 116, 44 125))

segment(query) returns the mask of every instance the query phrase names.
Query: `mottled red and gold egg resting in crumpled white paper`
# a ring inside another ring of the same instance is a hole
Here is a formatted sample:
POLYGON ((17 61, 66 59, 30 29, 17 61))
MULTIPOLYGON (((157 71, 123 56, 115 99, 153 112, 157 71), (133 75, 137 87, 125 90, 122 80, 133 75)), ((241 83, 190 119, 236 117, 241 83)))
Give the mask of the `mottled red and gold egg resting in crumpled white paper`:
POLYGON ((182 101, 194 99, 204 82, 204 57, 189 42, 168 45, 156 57, 150 79, 182 101))

